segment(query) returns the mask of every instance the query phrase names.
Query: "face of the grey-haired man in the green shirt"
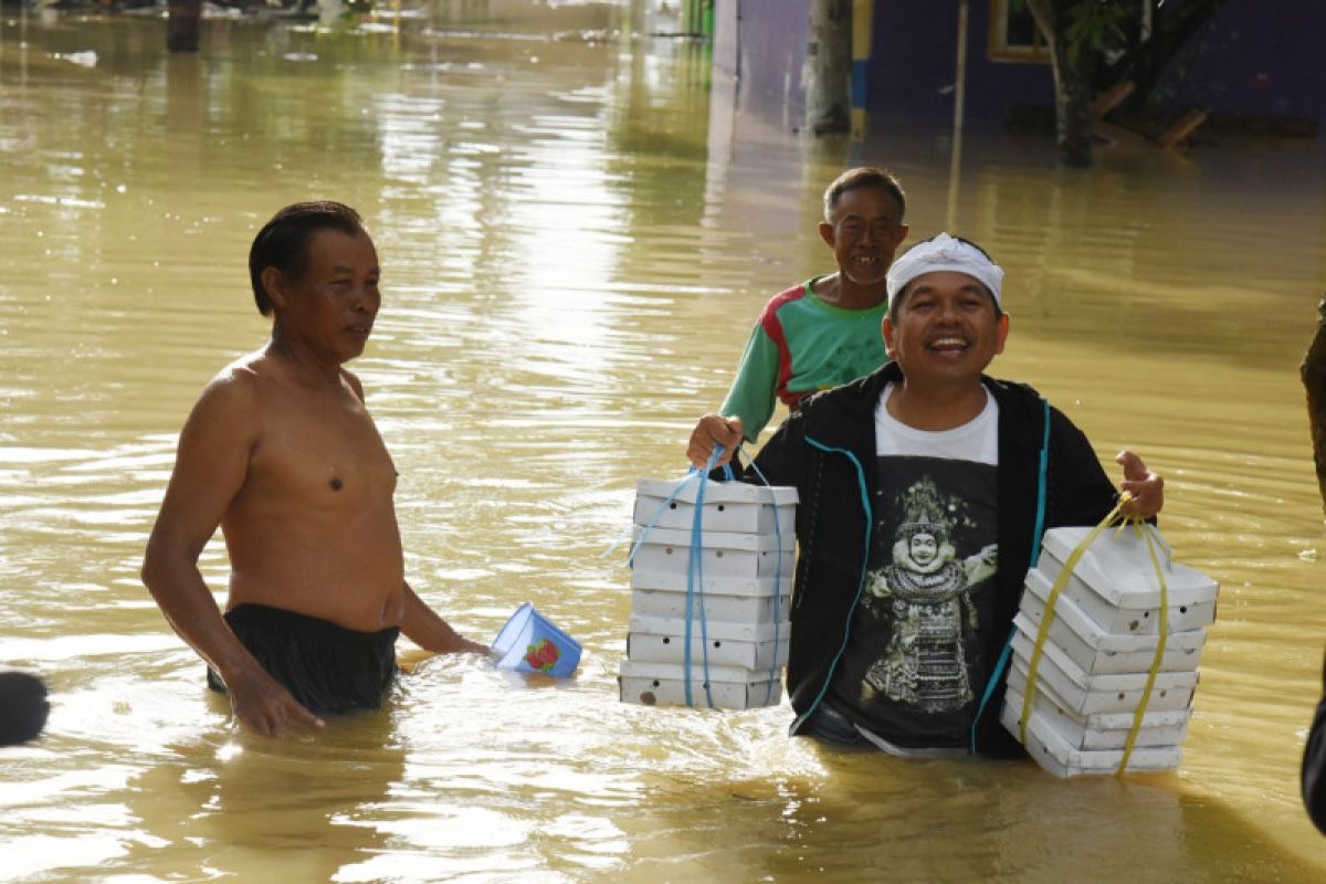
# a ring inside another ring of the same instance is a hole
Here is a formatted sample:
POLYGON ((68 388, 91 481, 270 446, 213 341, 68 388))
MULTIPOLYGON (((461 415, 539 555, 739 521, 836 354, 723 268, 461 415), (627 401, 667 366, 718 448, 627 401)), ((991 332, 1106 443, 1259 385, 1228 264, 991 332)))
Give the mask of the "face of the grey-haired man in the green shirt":
POLYGON ((903 207, 882 187, 843 191, 819 236, 833 248, 838 270, 857 285, 883 285, 894 252, 907 239, 903 207))

